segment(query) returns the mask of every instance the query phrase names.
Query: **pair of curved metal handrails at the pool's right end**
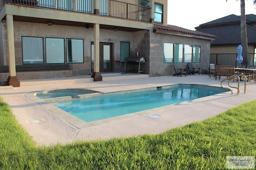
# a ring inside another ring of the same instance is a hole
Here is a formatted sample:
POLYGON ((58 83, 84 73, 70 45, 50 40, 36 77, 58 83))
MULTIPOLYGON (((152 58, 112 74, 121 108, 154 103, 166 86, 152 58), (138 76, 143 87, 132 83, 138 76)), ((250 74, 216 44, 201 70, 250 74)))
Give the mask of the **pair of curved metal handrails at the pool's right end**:
POLYGON ((244 93, 246 92, 246 76, 244 75, 244 74, 239 74, 239 75, 237 75, 237 74, 234 74, 234 75, 232 75, 232 76, 229 76, 228 78, 225 78, 224 80, 222 80, 221 82, 220 82, 220 86, 222 87, 222 88, 224 88, 224 89, 227 89, 227 90, 230 90, 231 91, 231 94, 233 94, 233 90, 231 89, 231 88, 236 88, 237 89, 237 95, 240 93, 240 76, 243 76, 244 77, 244 93), (237 80, 238 80, 238 85, 237 85, 237 87, 234 87, 234 86, 231 86, 230 85, 230 81, 232 81, 233 80, 233 82, 234 82, 234 79, 235 78, 237 78, 237 80), (224 81, 226 81, 226 80, 228 80, 228 86, 229 87, 224 87, 223 85, 222 85, 222 83, 224 82, 224 81))

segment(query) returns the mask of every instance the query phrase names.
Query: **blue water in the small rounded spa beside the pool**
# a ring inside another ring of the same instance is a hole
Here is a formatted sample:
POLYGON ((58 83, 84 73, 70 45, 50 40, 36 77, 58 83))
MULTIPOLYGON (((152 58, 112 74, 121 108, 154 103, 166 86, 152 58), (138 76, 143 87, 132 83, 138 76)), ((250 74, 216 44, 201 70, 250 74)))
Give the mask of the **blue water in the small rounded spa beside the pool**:
POLYGON ((58 98, 63 96, 71 96, 76 98, 77 95, 94 93, 88 90, 75 90, 75 89, 61 89, 61 90, 50 90, 46 92, 40 92, 36 94, 36 97, 40 99, 58 98))

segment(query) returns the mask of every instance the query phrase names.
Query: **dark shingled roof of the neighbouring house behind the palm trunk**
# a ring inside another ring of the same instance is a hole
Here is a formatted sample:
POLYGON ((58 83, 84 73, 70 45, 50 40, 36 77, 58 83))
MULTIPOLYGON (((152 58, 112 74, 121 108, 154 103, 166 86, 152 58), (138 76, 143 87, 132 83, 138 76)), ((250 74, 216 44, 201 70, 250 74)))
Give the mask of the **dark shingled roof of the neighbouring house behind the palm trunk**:
MULTIPOLYGON (((256 45, 256 27, 250 25, 256 22, 256 15, 246 15, 247 41, 248 44, 256 45)), ((240 16, 234 14, 201 24, 196 27, 197 31, 216 35, 211 45, 221 44, 240 44, 241 43, 241 28, 240 28, 240 16)))

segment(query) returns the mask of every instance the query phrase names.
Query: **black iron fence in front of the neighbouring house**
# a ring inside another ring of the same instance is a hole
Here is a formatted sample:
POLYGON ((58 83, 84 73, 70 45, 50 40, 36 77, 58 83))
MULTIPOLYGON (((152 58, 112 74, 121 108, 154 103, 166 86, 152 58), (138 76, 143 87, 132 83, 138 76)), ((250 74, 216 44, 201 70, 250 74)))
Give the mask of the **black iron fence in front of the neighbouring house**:
MULTIPOLYGON (((236 58, 238 54, 210 54, 210 64, 238 66, 236 58)), ((256 54, 248 54, 248 65, 256 65, 256 54)))

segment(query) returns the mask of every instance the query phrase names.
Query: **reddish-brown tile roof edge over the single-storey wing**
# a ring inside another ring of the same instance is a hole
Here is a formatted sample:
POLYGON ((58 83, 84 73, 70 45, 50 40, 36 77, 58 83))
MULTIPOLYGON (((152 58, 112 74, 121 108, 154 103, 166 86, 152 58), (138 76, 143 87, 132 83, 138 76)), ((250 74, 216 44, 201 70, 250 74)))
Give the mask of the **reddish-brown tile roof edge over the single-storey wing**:
POLYGON ((215 38, 214 35, 208 34, 208 33, 203 33, 200 31, 192 31, 190 29, 185 29, 182 27, 178 27, 175 25, 158 25, 154 24, 154 29, 160 29, 160 30, 166 30, 166 31, 174 31, 174 32, 179 32, 179 33, 184 33, 184 34, 189 34, 189 35, 198 35, 202 37, 208 37, 208 38, 215 38))

